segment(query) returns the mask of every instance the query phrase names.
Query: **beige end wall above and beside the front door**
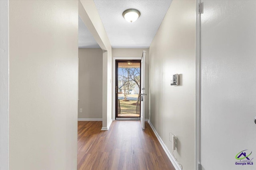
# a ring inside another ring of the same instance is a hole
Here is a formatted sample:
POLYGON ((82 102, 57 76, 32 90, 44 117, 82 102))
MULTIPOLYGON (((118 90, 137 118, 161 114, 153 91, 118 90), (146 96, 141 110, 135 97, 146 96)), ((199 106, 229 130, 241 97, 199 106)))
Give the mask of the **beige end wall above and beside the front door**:
MULTIPOLYGON (((145 72, 146 72, 146 76, 145 76, 145 89, 146 89, 146 94, 148 94, 148 78, 149 78, 149 74, 148 74, 148 63, 149 63, 149 50, 148 49, 112 49, 112 57, 118 57, 118 58, 133 58, 133 57, 138 57, 141 59, 142 57, 142 52, 146 51, 146 66, 145 66, 145 72)), ((115 63, 113 63, 115 64, 115 63)), ((113 70, 113 72, 115 72, 115 70, 113 70)), ((115 88, 115 77, 113 76, 112 80, 113 82, 113 88, 115 88)), ((112 95, 112 100, 115 100, 115 96, 112 95)), ((146 96, 146 103, 145 103, 145 119, 148 119, 148 102, 149 102, 149 98, 148 96, 146 96)), ((115 102, 113 102, 113 112, 115 111, 115 102)), ((113 117, 114 119, 114 117, 113 117)))

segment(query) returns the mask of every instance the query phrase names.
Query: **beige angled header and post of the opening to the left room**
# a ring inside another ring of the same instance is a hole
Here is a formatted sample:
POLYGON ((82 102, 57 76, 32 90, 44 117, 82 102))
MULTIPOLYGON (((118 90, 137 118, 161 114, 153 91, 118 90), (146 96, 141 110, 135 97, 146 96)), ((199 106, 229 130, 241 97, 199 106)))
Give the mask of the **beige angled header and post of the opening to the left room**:
POLYGON ((102 130, 112 122, 112 47, 93 0, 79 0, 79 16, 103 51, 102 130))

